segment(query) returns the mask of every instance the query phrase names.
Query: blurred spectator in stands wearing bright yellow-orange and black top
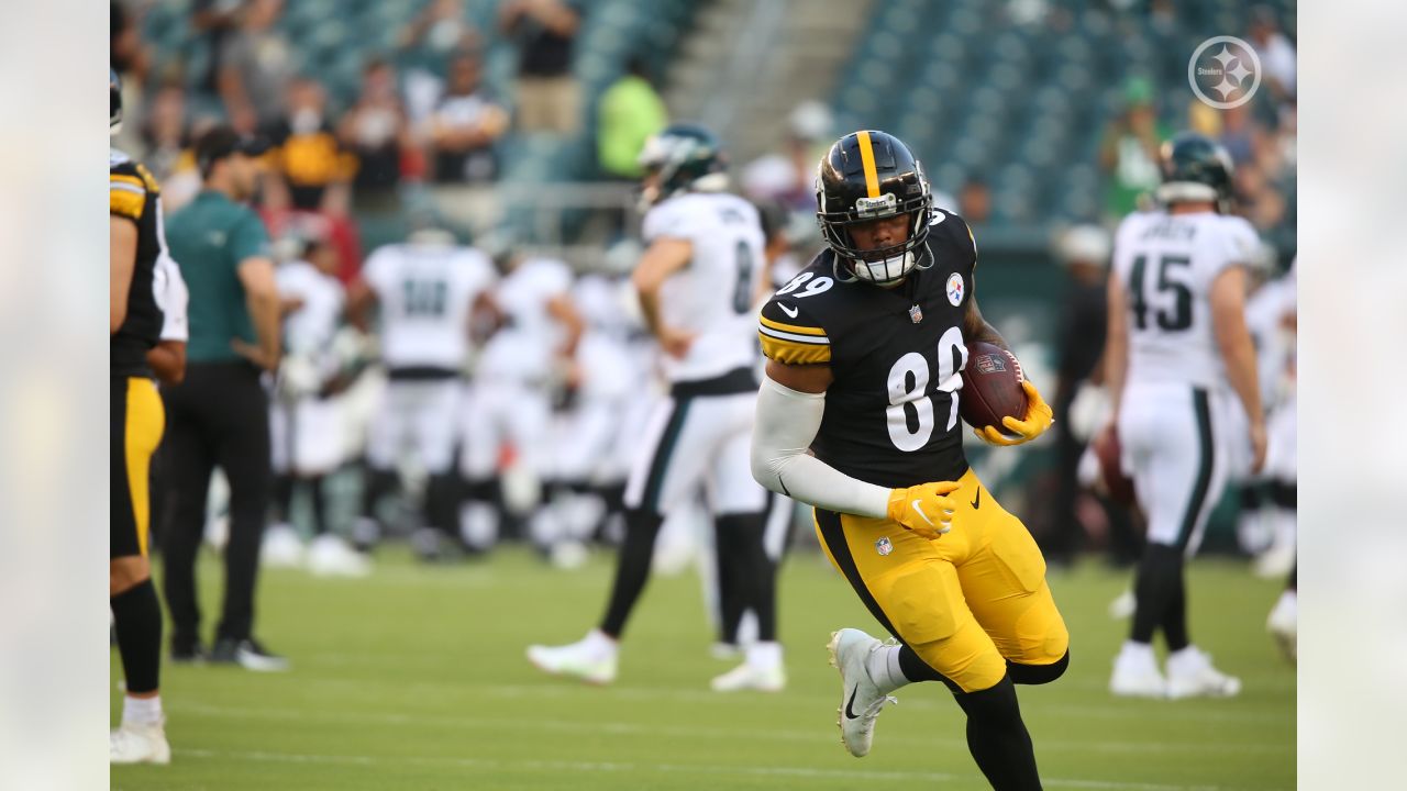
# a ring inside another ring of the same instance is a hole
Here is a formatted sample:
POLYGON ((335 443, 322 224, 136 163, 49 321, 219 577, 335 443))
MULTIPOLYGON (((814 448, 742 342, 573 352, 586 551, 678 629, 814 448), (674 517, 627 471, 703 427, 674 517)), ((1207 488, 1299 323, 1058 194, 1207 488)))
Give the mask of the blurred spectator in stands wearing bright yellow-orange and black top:
POLYGON ((310 77, 288 84, 287 113, 269 129, 272 179, 266 204, 274 208, 346 214, 356 159, 342 151, 326 117, 326 93, 310 77))

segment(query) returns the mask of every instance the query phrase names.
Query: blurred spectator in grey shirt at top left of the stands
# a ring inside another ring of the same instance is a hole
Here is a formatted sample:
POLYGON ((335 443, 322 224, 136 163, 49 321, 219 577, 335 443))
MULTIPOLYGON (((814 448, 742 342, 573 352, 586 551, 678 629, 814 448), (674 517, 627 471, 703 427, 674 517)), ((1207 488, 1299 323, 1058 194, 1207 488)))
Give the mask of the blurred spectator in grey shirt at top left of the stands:
POLYGON ((239 28, 219 51, 219 99, 241 134, 280 118, 293 76, 291 46, 276 27, 281 14, 283 0, 246 0, 239 28))

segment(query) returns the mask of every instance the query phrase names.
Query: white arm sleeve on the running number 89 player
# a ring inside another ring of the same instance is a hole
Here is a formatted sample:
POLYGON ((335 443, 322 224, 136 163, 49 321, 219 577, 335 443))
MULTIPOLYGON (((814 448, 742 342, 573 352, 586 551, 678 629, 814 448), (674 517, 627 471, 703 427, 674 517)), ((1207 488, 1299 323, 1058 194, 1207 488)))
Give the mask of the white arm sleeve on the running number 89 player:
POLYGON ((778 494, 827 511, 888 515, 888 488, 855 480, 810 455, 825 414, 825 393, 799 393, 764 374, 753 424, 753 477, 778 494))

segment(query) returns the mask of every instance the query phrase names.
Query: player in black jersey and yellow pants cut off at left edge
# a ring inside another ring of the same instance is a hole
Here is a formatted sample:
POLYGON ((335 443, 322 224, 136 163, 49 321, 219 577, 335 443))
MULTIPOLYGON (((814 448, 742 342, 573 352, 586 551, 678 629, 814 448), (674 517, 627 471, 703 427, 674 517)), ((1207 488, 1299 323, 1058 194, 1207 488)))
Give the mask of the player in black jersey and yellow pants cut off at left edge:
MULTIPOLYGON (((122 124, 122 86, 108 72, 108 128, 122 124)), ((108 739, 111 763, 169 763, 170 746, 158 694, 162 605, 146 559, 151 536, 151 463, 166 412, 146 353, 165 315, 158 304, 162 232, 156 179, 125 153, 108 152, 108 462, 113 469, 108 539, 108 602, 117 650, 127 676, 122 725, 108 739)))

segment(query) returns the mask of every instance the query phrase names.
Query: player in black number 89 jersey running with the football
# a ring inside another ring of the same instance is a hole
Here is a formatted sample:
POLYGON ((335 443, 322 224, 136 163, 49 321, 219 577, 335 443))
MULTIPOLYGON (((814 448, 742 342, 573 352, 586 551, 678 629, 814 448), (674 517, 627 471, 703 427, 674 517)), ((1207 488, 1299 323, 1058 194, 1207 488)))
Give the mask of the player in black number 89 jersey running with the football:
MULTIPOLYGON (((899 640, 833 635, 843 742, 867 754, 889 692, 943 681, 992 785, 1040 788, 1013 684, 1058 678, 1069 635, 1036 542, 962 453, 967 343, 1006 346, 976 305, 972 232, 933 207, 923 167, 885 132, 840 138, 816 198, 829 249, 760 318, 768 363, 751 463, 763 486, 815 505, 822 546, 899 640)), ((1050 426, 1024 387, 1024 419, 978 438, 1017 445, 1050 426)))

